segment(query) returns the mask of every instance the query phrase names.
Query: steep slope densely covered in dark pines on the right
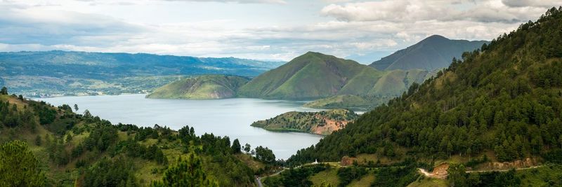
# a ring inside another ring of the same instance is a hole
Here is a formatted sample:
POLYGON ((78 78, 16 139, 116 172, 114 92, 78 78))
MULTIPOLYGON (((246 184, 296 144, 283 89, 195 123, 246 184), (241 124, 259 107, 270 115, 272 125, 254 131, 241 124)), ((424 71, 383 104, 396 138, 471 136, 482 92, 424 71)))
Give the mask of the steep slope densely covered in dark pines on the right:
POLYGON ((436 77, 289 158, 562 158, 562 7, 464 53, 436 77))

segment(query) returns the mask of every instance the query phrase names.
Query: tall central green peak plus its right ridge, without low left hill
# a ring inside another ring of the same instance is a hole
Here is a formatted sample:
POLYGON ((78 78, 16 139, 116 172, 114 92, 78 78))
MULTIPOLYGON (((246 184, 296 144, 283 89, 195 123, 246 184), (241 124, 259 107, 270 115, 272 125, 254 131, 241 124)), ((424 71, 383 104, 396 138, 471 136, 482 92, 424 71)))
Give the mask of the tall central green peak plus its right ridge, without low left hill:
POLYGON ((334 95, 396 96, 429 73, 377 71, 353 60, 308 52, 267 71, 240 88, 242 97, 316 99, 334 95), (388 86, 392 85, 392 86, 388 86))

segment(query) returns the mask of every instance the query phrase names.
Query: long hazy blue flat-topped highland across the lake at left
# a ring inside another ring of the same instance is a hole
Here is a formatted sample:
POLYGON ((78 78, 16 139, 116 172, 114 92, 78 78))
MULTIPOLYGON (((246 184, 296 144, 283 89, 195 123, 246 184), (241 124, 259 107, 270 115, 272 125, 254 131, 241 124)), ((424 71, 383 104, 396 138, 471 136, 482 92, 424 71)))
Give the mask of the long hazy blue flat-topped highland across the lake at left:
POLYGON ((145 53, 0 53, 0 86, 24 95, 143 92, 190 75, 258 76, 283 63, 145 53))

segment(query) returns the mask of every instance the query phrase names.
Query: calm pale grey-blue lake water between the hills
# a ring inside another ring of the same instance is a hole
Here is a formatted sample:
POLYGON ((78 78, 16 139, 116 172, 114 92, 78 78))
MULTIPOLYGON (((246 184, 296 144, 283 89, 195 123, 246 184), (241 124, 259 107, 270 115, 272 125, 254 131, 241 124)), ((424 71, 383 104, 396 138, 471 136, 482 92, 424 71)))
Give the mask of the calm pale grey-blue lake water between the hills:
POLYGON ((107 95, 41 98, 59 106, 78 104, 79 113, 88 109, 93 116, 144 127, 155 124, 178 130, 185 125, 198 135, 213 133, 239 139, 242 146, 267 146, 276 158, 287 159, 301 148, 318 143, 322 136, 298 132, 270 132, 250 124, 287 111, 317 111, 303 108, 303 102, 264 99, 145 99, 145 95, 107 95))

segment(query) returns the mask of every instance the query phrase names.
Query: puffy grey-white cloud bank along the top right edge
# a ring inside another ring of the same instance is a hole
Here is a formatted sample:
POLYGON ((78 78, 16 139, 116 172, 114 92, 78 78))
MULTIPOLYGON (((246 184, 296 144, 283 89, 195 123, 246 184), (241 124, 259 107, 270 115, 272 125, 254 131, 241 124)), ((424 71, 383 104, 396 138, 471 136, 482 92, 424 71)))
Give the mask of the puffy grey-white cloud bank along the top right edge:
POLYGON ((523 22, 544 13, 542 6, 554 6, 554 1, 519 0, 509 3, 488 1, 370 1, 330 4, 320 13, 344 21, 416 22, 424 20, 476 22, 523 22), (460 7, 460 8, 459 8, 460 7))

